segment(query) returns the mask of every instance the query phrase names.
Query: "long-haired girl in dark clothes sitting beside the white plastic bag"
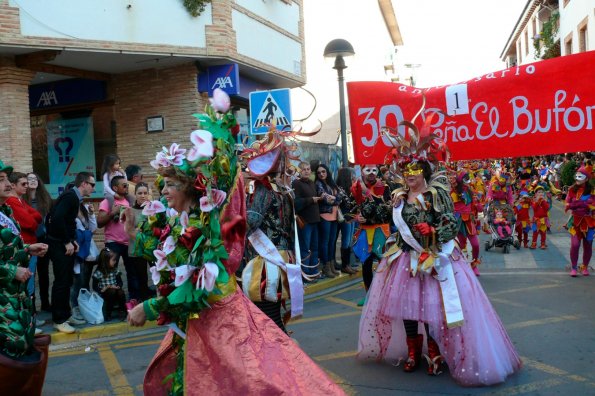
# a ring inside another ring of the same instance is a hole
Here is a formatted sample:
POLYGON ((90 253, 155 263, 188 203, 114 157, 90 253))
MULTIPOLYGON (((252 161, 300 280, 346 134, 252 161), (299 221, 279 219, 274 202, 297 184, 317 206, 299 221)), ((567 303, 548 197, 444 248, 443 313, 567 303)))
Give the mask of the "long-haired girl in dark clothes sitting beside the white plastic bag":
POLYGON ((122 279, 118 271, 119 257, 116 252, 103 248, 99 253, 99 264, 93 273, 93 289, 103 298, 103 316, 111 320, 114 306, 125 314, 126 296, 122 289, 122 279))

